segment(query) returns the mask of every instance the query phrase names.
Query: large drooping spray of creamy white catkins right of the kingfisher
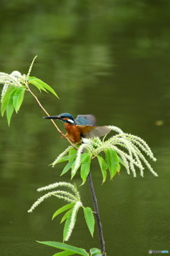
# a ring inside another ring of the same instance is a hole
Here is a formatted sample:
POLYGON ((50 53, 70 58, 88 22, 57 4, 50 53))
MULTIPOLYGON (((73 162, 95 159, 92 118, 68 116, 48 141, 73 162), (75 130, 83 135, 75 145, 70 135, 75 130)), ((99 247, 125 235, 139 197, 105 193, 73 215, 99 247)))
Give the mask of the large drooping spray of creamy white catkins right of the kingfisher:
POLYGON ((111 137, 105 142, 101 142, 101 139, 99 138, 96 141, 95 139, 89 139, 87 142, 85 141, 88 144, 88 146, 86 146, 86 150, 88 150, 89 153, 92 153, 93 156, 97 156, 101 151, 113 149, 118 153, 118 155, 120 155, 120 158, 123 160, 128 174, 130 174, 131 170, 133 176, 135 177, 137 175, 135 166, 137 166, 137 168, 140 169, 140 175, 143 176, 143 170, 145 169, 144 166, 142 166, 143 162, 144 164, 146 164, 149 171, 151 171, 154 176, 157 176, 148 161, 145 159, 143 152, 147 154, 147 156, 149 156, 153 161, 156 161, 157 159, 154 158, 151 149, 143 139, 132 134, 124 133, 118 127, 110 125, 108 126, 108 128, 115 132, 118 132, 118 134, 111 137), (123 147, 123 149, 128 150, 128 152, 125 152, 118 146, 123 147))

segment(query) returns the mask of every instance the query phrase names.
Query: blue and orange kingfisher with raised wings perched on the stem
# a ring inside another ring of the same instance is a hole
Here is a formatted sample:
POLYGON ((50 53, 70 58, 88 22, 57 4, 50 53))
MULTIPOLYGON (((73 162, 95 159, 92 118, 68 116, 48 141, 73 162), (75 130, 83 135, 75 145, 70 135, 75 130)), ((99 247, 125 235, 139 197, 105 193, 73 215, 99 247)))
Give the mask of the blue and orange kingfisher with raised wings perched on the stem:
POLYGON ((79 114, 76 119, 69 113, 58 114, 57 116, 43 117, 45 119, 57 119, 64 122, 64 128, 67 137, 70 142, 74 144, 81 144, 82 138, 92 139, 95 137, 101 137, 111 130, 107 126, 96 126, 96 117, 93 114, 79 114))

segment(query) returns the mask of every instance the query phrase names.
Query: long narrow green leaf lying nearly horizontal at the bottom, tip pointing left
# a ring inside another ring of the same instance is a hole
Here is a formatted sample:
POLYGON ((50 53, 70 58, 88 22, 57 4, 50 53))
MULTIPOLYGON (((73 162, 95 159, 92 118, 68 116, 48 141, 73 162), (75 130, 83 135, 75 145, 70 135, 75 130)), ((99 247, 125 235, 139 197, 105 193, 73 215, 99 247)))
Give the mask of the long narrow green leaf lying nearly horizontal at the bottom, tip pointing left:
MULTIPOLYGON (((37 241, 40 242, 40 241, 37 241)), ((52 246, 55 247, 57 249, 60 250, 67 250, 70 252, 74 252, 75 254, 77 253, 78 255, 83 255, 83 256, 88 256, 88 253, 86 252, 86 250, 79 248, 79 247, 74 247, 72 245, 67 245, 63 242, 50 242, 50 241, 45 241, 45 242, 40 242, 43 245, 48 245, 48 246, 52 246)))

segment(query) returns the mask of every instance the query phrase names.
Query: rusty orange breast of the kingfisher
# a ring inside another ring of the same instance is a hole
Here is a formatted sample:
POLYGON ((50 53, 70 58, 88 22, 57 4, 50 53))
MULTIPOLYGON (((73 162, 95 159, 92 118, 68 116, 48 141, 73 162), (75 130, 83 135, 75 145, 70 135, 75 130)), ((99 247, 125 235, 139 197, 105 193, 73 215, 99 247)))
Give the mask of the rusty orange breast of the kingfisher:
POLYGON ((67 134, 65 135, 68 139, 70 139, 74 143, 81 143, 81 132, 79 127, 77 125, 64 123, 64 128, 67 131, 67 134))

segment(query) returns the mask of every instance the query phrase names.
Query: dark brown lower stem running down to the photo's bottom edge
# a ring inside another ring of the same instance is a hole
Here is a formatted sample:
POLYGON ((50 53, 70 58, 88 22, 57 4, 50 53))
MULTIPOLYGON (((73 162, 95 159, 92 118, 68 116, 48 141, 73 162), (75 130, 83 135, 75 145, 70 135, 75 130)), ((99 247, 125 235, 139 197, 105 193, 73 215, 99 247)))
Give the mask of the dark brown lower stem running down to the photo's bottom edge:
POLYGON ((99 215, 99 211, 98 211, 97 198, 96 198, 96 194, 94 191, 94 184, 93 184, 90 172, 88 175, 88 180, 89 180, 89 188, 90 188, 91 196, 92 196, 93 203, 94 203, 94 210, 95 210, 95 215, 96 215, 96 220, 97 220, 97 225, 98 225, 98 235, 99 235, 99 240, 101 243, 101 254, 102 254, 102 256, 105 256, 106 254, 105 254, 105 242, 103 239, 103 230, 102 230, 101 219, 100 219, 100 215, 99 215))

